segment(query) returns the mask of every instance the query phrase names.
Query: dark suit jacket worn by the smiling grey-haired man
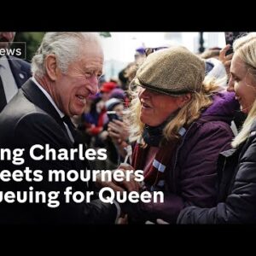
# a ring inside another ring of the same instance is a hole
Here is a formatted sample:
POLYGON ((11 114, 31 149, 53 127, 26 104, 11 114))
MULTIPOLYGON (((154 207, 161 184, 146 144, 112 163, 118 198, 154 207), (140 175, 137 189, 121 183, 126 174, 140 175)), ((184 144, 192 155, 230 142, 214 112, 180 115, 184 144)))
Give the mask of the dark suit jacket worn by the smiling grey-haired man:
MULTIPOLYGON (((21 166, 15 166, 12 161, 2 161, 0 170, 24 170, 26 166, 30 169, 42 170, 43 182, 0 182, 2 191, 61 191, 58 201, 60 207, 50 208, 46 204, 0 202, 0 224, 105 224, 113 223, 117 209, 114 205, 104 204, 95 199, 90 203, 65 203, 63 192, 68 186, 73 191, 79 190, 85 193, 87 184, 77 182, 47 181, 49 169, 64 170, 86 170, 90 169, 87 161, 79 160, 32 160, 29 157, 29 148, 34 144, 49 144, 50 148, 73 148, 73 143, 67 136, 67 130, 60 115, 49 102, 46 96, 38 89, 37 85, 29 79, 23 84, 21 90, 11 102, 0 113, 0 145, 1 148, 25 148, 23 157, 26 162, 21 166)), ((85 149, 85 148, 84 148, 85 149)), ((39 154, 44 151, 39 150, 39 154)), ((33 177, 33 176, 31 176, 33 177)))

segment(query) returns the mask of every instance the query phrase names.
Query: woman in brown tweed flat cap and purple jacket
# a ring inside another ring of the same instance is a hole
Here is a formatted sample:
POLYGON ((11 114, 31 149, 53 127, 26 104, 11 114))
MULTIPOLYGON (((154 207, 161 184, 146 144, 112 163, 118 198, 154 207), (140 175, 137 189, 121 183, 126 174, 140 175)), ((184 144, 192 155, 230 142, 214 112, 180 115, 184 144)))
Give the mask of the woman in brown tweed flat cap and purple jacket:
POLYGON ((164 191, 165 199, 125 202, 121 209, 129 223, 162 218, 174 224, 188 205, 216 205, 216 163, 218 154, 230 148, 238 103, 234 93, 204 81, 205 72, 205 61, 177 46, 148 55, 131 81, 137 87, 128 116, 135 146, 131 166, 119 169, 143 170, 144 180, 143 185, 132 180, 119 186, 164 191))

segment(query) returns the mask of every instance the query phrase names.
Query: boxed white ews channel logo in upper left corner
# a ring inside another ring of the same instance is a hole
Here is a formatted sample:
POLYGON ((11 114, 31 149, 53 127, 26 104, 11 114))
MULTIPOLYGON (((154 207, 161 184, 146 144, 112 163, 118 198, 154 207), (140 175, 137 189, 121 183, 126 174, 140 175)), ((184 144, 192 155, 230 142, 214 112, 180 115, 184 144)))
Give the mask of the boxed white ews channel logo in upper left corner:
POLYGON ((26 60, 26 42, 13 42, 7 48, 0 48, 0 57, 3 55, 26 60))

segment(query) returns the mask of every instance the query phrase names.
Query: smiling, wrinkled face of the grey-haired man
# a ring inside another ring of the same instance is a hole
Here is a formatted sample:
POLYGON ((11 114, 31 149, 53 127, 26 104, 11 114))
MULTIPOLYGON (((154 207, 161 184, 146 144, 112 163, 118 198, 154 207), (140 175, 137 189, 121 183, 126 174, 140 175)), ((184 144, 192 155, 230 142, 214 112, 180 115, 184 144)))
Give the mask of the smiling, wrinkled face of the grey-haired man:
POLYGON ((68 116, 84 112, 86 99, 98 92, 98 79, 102 75, 102 48, 95 43, 81 47, 80 58, 68 67, 66 74, 57 72, 52 97, 61 111, 68 116))

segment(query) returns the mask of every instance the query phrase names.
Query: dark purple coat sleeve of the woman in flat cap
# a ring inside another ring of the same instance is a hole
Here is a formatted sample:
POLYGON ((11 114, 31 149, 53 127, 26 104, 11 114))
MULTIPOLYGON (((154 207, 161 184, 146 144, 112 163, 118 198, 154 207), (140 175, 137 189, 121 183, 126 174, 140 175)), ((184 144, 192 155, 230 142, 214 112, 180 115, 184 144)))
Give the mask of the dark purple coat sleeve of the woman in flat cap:
POLYGON ((230 126, 224 122, 209 121, 201 125, 186 138, 177 157, 175 172, 179 173, 176 180, 179 192, 173 194, 166 191, 164 203, 129 204, 125 211, 142 220, 162 218, 176 223, 179 212, 185 206, 215 206, 218 154, 230 148, 232 137, 230 126))

